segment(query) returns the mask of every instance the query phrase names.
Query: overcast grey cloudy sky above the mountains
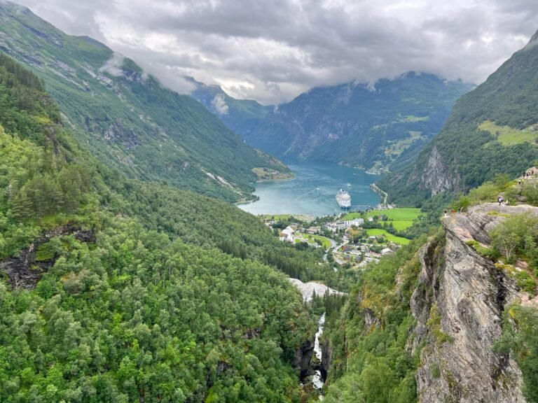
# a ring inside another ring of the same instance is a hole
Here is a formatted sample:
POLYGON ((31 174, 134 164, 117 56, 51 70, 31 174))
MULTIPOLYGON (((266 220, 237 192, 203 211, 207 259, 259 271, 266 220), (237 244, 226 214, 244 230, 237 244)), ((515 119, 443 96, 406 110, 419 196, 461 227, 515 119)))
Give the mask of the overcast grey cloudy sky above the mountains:
POLYGON ((537 0, 15 2, 180 92, 188 75, 263 104, 410 70, 481 83, 538 29, 537 0))

